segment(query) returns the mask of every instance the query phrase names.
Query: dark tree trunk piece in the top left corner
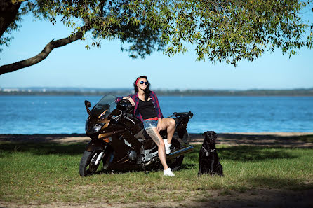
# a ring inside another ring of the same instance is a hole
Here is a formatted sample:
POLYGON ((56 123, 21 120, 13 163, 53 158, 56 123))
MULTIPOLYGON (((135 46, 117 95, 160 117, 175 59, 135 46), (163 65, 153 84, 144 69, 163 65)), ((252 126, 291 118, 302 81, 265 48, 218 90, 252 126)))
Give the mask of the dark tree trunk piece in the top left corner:
POLYGON ((18 13, 21 2, 12 4, 11 0, 0 0, 0 37, 4 34, 18 13))

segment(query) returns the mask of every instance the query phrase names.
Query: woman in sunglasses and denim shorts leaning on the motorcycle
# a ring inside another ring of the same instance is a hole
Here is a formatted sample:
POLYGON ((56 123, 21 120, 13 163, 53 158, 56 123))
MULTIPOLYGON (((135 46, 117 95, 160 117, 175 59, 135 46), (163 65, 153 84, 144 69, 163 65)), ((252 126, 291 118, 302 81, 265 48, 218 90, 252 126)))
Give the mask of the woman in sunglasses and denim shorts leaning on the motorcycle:
POLYGON ((143 122, 147 134, 158 146, 159 158, 164 167, 164 176, 175 176, 166 163, 165 155, 165 153, 171 153, 170 146, 175 132, 175 120, 173 118, 163 118, 158 98, 153 91, 149 90, 150 84, 147 76, 138 77, 133 85, 135 94, 118 97, 116 102, 121 99, 128 99, 135 106, 134 115, 143 122), (167 139, 162 139, 159 134, 161 130, 167 130, 167 139))

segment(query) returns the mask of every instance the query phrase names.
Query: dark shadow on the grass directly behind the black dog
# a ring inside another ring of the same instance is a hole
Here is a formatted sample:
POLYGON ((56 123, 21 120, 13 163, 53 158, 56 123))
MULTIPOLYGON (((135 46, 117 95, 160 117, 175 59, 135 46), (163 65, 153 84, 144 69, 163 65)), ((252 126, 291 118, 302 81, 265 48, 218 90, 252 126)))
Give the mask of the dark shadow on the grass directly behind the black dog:
MULTIPOLYGON (((188 155, 192 161, 199 161, 201 145, 194 145, 194 151, 188 155)), ((253 161, 260 162, 268 159, 293 159, 295 155, 286 151, 288 148, 264 147, 264 146, 227 146, 217 148, 221 160, 253 161)))

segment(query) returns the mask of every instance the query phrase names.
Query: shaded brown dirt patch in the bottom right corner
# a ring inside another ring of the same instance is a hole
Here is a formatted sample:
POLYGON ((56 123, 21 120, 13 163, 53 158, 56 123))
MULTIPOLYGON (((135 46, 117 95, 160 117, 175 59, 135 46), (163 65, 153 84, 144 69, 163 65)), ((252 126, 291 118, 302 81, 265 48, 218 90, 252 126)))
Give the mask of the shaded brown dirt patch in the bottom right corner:
POLYGON ((313 207, 313 190, 272 190, 258 189, 248 190, 244 193, 237 191, 219 191, 218 193, 208 191, 202 197, 195 196, 183 204, 185 207, 313 207))

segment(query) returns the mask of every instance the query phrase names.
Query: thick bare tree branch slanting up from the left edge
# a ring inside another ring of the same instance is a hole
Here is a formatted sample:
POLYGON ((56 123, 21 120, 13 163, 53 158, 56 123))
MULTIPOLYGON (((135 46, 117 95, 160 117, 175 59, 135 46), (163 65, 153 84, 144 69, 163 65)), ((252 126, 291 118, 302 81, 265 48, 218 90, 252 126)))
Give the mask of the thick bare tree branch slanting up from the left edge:
POLYGON ((54 39, 53 39, 51 42, 49 42, 46 45, 44 50, 42 50, 41 53, 39 53, 38 55, 35 55, 34 57, 31 57, 27 60, 22 60, 20 62, 15 62, 13 64, 7 64, 7 65, 1 66, 0 67, 0 75, 8 73, 8 72, 13 72, 13 71, 16 71, 18 69, 25 68, 25 67, 29 67, 29 66, 32 66, 34 64, 41 62, 51 53, 51 51, 54 48, 59 48, 59 47, 65 46, 69 43, 72 43, 74 41, 81 39, 84 36, 84 32, 86 32, 86 31, 88 31, 88 26, 84 25, 83 27, 81 27, 79 32, 76 32, 72 36, 69 36, 65 39, 59 39, 56 41, 54 41, 54 39))

